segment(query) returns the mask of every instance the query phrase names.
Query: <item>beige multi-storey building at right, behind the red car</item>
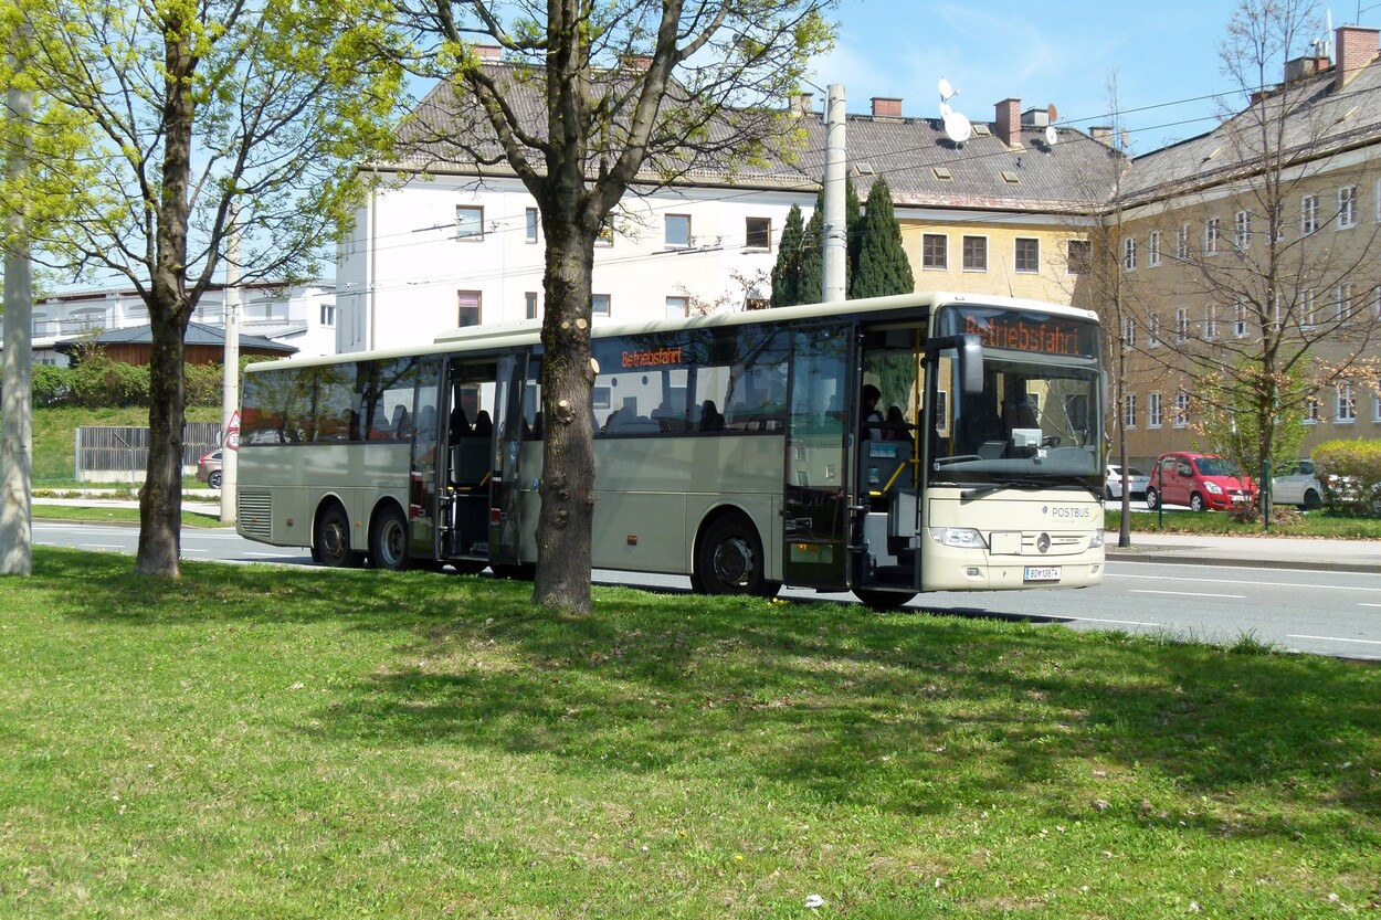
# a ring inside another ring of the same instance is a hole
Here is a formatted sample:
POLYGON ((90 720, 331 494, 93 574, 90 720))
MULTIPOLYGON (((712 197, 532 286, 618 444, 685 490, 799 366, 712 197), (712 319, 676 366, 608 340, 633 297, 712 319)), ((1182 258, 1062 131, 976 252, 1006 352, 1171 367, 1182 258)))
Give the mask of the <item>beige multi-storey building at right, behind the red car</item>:
POLYGON ((1135 159, 1105 214, 1121 301, 1105 296, 1103 314, 1127 347, 1134 464, 1221 449, 1204 425, 1213 380, 1248 365, 1273 367, 1277 405, 1302 413, 1301 454, 1381 438, 1378 32, 1344 26, 1335 43, 1337 64, 1291 61, 1214 131, 1135 159))

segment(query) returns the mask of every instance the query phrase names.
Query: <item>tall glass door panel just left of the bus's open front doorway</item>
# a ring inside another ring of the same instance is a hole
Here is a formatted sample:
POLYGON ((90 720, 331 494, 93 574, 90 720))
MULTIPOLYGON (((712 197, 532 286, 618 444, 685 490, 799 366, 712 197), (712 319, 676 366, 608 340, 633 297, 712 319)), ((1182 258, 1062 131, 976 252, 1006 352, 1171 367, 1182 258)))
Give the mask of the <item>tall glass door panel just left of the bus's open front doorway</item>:
POLYGON ((849 584, 852 329, 830 325, 791 337, 782 493, 782 577, 787 584, 834 590, 849 584))

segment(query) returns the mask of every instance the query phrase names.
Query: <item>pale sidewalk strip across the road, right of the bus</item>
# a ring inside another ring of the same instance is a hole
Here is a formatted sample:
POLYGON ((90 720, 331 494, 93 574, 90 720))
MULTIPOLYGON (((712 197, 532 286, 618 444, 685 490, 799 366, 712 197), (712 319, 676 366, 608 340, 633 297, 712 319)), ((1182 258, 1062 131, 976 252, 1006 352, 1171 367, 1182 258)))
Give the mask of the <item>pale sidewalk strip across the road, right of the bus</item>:
POLYGON ((1251 565, 1273 569, 1371 572, 1381 575, 1381 540, 1312 540, 1304 537, 1239 537, 1208 533, 1135 533, 1131 546, 1117 546, 1109 530, 1108 558, 1123 562, 1189 565, 1251 565))

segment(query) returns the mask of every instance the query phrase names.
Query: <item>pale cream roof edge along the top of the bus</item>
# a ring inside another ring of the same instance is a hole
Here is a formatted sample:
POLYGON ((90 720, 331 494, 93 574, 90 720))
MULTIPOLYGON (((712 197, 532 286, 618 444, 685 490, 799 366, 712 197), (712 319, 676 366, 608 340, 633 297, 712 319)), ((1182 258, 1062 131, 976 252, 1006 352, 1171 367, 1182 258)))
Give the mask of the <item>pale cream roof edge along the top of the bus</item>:
MULTIPOLYGON (((895 294, 892 297, 870 297, 866 300, 842 300, 827 304, 802 304, 800 307, 772 307, 768 309, 739 311, 733 314, 708 314, 704 316, 689 316, 686 319, 655 319, 644 322, 597 323, 594 337, 635 336, 642 333, 675 332, 679 329, 711 329, 718 326, 743 326, 762 322, 800 322, 841 315, 859 315, 888 312, 896 309, 931 311, 945 304, 974 304, 982 307, 1008 307, 1012 309, 1033 309, 1039 312, 1055 314, 1072 319, 1098 320, 1098 314, 1077 307, 1065 307, 1040 300, 1023 300, 1019 297, 990 297, 986 294, 960 294, 952 291, 921 291, 914 294, 895 294)), ((465 326, 453 329, 436 336, 435 341, 427 345, 410 348, 388 348, 381 351, 359 351, 319 358, 293 358, 250 365, 255 370, 267 370, 282 365, 304 367, 313 365, 330 365, 341 361, 362 359, 389 359, 407 358, 414 355, 450 354, 457 348, 489 347, 511 348, 519 345, 533 345, 541 340, 541 320, 525 319, 512 323, 489 323, 483 326, 465 326)))

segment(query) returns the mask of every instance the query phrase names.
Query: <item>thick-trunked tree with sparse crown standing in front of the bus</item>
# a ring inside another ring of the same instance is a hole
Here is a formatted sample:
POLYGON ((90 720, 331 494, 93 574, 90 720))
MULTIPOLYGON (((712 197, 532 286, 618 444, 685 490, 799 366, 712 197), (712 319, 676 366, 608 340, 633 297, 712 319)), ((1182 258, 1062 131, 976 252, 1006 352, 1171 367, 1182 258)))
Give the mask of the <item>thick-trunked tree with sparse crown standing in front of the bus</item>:
POLYGON ((435 36, 442 120, 410 138, 438 157, 505 163, 545 235, 541 395, 547 428, 533 600, 590 609, 594 243, 632 186, 744 163, 794 141, 780 99, 830 43, 833 0, 610 0, 499 7, 414 0, 435 36), (478 44, 499 46, 485 64, 478 44), (446 111, 449 108, 449 111, 446 111), (540 112, 529 117, 526 113, 540 112))

